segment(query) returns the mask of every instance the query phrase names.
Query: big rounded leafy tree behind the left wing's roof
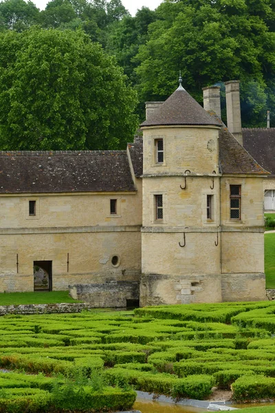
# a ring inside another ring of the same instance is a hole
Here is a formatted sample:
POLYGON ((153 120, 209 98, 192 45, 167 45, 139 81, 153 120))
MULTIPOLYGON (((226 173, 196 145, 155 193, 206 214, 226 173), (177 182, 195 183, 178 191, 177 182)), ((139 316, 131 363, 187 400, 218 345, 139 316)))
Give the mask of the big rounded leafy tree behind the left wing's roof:
POLYGON ((137 127, 122 69, 81 31, 0 34, 1 149, 120 149, 137 127))

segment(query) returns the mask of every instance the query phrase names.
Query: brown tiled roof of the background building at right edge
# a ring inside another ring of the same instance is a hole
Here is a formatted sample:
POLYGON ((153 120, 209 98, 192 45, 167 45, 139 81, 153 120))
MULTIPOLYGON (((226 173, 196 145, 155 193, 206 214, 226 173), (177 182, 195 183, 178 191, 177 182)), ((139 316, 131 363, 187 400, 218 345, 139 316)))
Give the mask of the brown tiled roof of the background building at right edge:
POLYGON ((263 168, 275 175, 275 127, 243 128, 243 146, 263 168))

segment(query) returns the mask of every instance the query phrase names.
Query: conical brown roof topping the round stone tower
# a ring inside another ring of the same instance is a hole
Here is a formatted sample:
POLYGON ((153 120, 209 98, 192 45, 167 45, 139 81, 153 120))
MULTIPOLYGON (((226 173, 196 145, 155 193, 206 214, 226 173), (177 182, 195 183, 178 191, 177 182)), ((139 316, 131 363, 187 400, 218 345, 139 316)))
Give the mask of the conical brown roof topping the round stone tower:
POLYGON ((210 116, 181 85, 140 126, 157 125, 221 126, 219 121, 210 116))

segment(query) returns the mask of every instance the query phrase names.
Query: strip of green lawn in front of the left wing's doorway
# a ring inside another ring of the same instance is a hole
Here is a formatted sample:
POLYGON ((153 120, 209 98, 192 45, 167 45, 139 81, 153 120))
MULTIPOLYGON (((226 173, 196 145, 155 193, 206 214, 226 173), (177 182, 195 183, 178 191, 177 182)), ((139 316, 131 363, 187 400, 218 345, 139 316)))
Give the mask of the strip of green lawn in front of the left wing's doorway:
POLYGON ((0 306, 11 304, 80 303, 68 291, 39 291, 36 293, 0 293, 0 306))

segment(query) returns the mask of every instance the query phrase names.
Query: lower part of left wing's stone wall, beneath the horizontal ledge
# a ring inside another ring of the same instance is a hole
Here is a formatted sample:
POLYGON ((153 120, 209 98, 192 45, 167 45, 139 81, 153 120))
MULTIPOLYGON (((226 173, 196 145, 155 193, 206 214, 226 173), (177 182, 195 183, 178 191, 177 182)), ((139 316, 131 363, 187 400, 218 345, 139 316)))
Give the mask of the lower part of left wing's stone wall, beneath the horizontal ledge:
POLYGON ((62 233, 46 231, 0 234, 0 292, 33 291, 34 261, 44 260, 52 261, 53 290, 67 290, 72 284, 140 280, 139 226, 112 226, 108 232, 103 226, 86 227, 83 232, 72 227, 62 233), (113 256, 118 257, 115 265, 113 256))

